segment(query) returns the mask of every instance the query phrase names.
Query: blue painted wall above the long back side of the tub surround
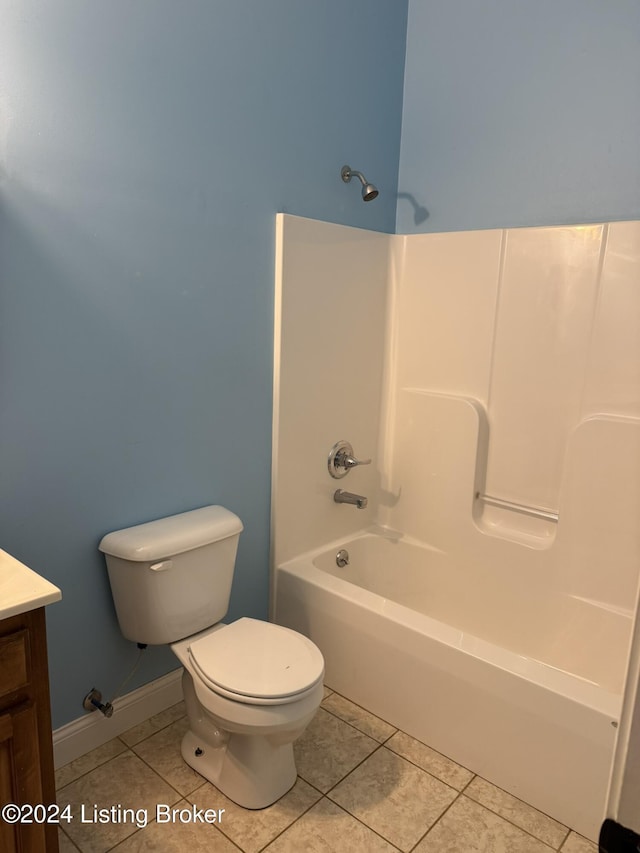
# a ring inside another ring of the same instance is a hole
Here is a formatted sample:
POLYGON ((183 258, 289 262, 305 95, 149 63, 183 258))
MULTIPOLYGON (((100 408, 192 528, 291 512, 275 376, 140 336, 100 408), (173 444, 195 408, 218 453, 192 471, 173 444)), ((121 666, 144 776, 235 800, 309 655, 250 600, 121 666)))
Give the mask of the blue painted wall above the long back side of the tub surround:
POLYGON ((640 218, 639 140, 637 0, 410 0, 399 233, 640 218))

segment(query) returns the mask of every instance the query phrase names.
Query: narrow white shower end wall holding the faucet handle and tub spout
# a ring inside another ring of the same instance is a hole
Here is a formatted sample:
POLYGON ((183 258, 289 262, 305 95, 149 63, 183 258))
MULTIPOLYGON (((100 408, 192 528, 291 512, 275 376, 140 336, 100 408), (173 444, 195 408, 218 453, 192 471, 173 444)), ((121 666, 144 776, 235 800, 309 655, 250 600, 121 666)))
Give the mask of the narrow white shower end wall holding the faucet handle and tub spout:
POLYGON ((389 237, 278 214, 272 547, 282 562, 375 519, 389 237), (345 439, 371 465, 334 480, 345 439), (338 488, 369 499, 338 505, 338 488))

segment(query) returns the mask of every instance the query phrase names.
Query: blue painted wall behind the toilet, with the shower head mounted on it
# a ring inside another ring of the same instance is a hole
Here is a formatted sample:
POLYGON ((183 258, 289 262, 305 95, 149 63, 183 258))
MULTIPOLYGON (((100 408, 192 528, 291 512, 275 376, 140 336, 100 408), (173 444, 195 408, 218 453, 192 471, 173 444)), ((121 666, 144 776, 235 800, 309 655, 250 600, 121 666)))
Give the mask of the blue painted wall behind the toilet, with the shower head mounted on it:
POLYGON ((0 9, 0 546, 63 590, 59 726, 136 655, 104 533, 228 506, 230 618, 266 616, 274 215, 393 231, 407 4, 0 9))

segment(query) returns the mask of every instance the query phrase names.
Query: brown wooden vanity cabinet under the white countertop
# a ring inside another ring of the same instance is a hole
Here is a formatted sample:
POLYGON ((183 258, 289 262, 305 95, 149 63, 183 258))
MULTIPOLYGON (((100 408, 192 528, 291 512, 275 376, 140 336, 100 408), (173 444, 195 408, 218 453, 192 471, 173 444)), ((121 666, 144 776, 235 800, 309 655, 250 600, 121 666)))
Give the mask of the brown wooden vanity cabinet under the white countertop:
MULTIPOLYGON (((0 620, 0 806, 56 802, 44 607, 0 620)), ((2 853, 58 853, 55 824, 0 819, 2 853)))

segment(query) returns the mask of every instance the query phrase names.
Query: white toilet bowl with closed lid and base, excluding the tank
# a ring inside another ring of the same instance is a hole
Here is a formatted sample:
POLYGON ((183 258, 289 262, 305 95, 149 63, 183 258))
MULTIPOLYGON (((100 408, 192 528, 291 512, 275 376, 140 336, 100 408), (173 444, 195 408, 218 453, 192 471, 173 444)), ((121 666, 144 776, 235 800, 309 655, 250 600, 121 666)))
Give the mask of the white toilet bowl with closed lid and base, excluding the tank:
POLYGON ((230 800, 271 805, 295 783, 293 742, 322 701, 319 650, 288 628, 246 618, 171 648, 184 667, 182 757, 230 800))

